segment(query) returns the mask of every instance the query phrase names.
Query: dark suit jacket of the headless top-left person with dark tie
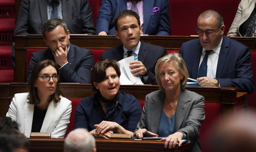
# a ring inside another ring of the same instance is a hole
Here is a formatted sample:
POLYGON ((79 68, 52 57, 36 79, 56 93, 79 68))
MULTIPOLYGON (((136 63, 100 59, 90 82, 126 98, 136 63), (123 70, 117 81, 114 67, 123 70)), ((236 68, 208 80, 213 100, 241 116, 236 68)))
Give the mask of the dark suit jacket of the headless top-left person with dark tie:
MULTIPOLYGON (((95 34, 88 0, 61 0, 61 5, 70 34, 95 34)), ((14 34, 41 34, 47 19, 47 0, 22 0, 14 34)))

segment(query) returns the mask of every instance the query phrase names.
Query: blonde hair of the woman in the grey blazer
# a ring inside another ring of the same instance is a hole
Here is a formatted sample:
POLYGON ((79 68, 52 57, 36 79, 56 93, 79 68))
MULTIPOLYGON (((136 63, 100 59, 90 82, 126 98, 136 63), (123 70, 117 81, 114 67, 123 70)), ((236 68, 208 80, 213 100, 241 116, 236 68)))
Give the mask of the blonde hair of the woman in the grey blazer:
POLYGON ((186 63, 182 59, 179 53, 169 53, 168 55, 163 56, 161 59, 158 59, 156 62, 155 73, 156 73, 156 82, 159 85, 160 90, 164 91, 163 85, 160 80, 159 67, 163 63, 174 62, 176 64, 176 68, 183 75, 183 78, 180 82, 180 88, 184 89, 187 85, 187 78, 189 77, 189 73, 186 67, 186 63))

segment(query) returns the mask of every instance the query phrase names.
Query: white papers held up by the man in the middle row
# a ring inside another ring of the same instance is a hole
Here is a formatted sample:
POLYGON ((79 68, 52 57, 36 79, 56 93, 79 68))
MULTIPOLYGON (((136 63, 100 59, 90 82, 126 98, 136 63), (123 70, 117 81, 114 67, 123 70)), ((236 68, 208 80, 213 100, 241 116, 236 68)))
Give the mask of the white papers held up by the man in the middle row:
POLYGON ((126 57, 117 62, 121 71, 120 84, 144 84, 139 76, 132 75, 131 69, 129 68, 131 61, 134 61, 134 56, 126 57))

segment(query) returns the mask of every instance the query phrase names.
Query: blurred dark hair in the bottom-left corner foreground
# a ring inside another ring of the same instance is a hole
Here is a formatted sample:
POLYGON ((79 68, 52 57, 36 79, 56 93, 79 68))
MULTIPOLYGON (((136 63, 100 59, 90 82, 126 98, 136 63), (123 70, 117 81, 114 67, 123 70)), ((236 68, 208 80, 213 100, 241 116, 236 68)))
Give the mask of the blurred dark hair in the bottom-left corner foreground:
POLYGON ((17 122, 10 117, 0 118, 0 152, 12 152, 17 148, 29 150, 28 139, 20 133, 17 122))

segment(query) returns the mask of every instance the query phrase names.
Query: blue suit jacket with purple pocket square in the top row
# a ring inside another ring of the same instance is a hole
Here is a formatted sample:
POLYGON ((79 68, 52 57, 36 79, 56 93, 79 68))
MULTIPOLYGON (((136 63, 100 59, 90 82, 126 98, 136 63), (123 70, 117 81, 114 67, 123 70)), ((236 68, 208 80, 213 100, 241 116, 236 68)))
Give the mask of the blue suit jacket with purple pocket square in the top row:
MULTIPOLYGON (((105 31, 115 35, 114 17, 125 9, 127 0, 102 0, 96 21, 96 34, 105 31)), ((168 0, 144 0, 143 22, 143 34, 171 35, 168 0), (159 11, 151 15, 154 7, 158 7, 159 11)))

